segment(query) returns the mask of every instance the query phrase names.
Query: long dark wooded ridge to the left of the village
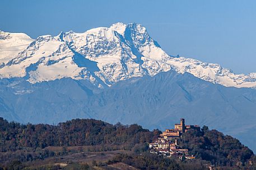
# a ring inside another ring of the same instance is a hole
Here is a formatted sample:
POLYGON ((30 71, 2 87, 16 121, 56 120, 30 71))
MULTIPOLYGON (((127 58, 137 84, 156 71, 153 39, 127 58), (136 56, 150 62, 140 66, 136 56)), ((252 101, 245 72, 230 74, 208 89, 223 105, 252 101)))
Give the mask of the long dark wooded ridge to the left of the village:
POLYGON ((134 145, 151 142, 154 136, 153 132, 143 129, 137 124, 112 125, 94 119, 73 119, 58 125, 33 125, 8 123, 7 120, 0 118, 0 130, 0 152, 15 151, 27 147, 134 145))

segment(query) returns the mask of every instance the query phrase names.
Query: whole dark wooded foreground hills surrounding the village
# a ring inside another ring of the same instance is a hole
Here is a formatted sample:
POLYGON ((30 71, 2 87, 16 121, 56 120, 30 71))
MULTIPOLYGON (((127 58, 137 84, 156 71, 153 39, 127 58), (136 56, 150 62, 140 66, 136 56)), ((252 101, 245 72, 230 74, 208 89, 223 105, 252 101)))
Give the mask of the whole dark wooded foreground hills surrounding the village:
POLYGON ((0 169, 47 169, 42 166, 51 163, 56 166, 63 162, 67 167, 71 164, 71 169, 74 169, 74 162, 78 169, 85 163, 85 169, 97 169, 95 166, 113 169, 116 164, 137 169, 206 169, 205 164, 215 164, 224 169, 256 168, 252 150, 230 135, 209 130, 206 126, 199 132, 188 130, 178 141, 180 147, 196 156, 193 161, 180 162, 175 158, 151 154, 148 143, 157 139, 159 134, 160 130, 150 132, 137 124, 112 125, 94 119, 34 125, 7 122, 0 118, 0 169), (92 162, 98 158, 100 162, 92 162))

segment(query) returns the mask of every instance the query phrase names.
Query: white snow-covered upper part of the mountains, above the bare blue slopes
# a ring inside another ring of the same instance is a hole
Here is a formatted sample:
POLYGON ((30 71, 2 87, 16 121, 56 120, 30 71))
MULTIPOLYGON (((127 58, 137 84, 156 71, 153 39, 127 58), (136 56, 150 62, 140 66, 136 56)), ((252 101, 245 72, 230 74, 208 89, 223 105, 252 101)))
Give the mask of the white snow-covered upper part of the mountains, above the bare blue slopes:
POLYGON ((175 70, 224 86, 255 88, 256 73, 235 74, 166 54, 142 25, 115 23, 83 33, 61 32, 32 40, 24 33, 0 32, 0 78, 24 77, 31 83, 71 77, 99 88, 120 80, 175 70))

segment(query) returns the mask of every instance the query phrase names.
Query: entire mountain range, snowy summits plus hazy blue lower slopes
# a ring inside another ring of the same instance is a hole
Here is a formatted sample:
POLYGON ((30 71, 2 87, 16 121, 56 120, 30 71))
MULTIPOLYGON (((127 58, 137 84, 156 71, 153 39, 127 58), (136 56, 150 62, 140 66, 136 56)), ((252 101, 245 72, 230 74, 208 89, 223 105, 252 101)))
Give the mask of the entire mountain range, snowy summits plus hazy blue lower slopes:
POLYGON ((35 40, 0 32, 0 116, 72 118, 169 128, 179 118, 234 135, 256 151, 256 73, 166 54, 136 23, 35 40))

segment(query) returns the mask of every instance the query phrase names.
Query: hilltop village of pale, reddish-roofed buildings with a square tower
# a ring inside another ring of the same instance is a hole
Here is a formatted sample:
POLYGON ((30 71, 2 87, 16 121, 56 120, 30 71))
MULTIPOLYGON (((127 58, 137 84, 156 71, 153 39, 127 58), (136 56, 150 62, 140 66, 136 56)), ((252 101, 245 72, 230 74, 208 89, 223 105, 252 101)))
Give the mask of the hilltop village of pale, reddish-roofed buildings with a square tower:
POLYGON ((167 157, 177 156, 179 159, 195 159, 188 149, 179 147, 177 140, 189 129, 200 131, 199 125, 185 125, 185 119, 180 119, 180 124, 175 124, 174 129, 166 129, 155 142, 149 144, 150 152, 167 157))

